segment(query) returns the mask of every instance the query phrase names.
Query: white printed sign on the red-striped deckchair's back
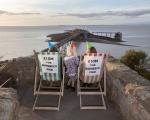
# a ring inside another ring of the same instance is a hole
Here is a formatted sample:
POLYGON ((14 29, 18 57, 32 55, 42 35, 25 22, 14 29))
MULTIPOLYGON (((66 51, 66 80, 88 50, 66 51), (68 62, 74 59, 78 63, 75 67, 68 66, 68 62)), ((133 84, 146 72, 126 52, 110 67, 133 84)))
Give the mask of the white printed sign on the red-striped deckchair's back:
POLYGON ((104 56, 84 56, 85 75, 95 76, 100 74, 104 56))

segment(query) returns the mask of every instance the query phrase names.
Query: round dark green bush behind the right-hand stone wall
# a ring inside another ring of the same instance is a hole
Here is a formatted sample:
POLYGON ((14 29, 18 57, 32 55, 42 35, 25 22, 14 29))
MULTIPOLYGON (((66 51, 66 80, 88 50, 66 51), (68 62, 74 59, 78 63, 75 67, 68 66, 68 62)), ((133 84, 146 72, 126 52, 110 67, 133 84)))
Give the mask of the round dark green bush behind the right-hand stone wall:
POLYGON ((130 68, 138 70, 143 68, 146 57, 147 54, 145 52, 131 49, 126 51, 125 55, 121 57, 120 61, 130 68))

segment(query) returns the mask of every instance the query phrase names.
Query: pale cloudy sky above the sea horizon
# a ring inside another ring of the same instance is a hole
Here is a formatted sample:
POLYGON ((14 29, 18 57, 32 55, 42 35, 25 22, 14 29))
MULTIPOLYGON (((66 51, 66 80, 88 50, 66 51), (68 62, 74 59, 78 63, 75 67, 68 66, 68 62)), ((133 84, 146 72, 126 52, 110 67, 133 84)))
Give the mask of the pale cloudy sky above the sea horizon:
POLYGON ((0 0, 0 26, 150 24, 150 0, 0 0))

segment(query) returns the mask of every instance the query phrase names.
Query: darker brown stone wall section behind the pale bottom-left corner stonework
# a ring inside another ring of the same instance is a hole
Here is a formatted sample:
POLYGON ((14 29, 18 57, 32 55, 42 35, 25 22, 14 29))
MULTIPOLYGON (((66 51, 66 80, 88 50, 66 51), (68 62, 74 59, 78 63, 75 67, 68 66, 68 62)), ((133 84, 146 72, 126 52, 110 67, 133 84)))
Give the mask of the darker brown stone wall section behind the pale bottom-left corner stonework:
POLYGON ((34 70, 35 62, 31 56, 9 60, 3 73, 13 77, 15 82, 10 81, 10 85, 5 85, 4 87, 15 88, 18 93, 18 99, 21 101, 27 89, 34 85, 34 70))

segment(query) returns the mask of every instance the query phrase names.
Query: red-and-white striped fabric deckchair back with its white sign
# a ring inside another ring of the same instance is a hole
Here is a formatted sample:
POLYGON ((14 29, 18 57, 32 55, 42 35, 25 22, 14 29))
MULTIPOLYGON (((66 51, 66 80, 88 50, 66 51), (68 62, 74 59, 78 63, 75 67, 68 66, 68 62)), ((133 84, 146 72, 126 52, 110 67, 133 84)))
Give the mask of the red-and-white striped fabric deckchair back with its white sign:
POLYGON ((85 83, 99 82, 103 74, 105 53, 89 53, 84 55, 85 83))

